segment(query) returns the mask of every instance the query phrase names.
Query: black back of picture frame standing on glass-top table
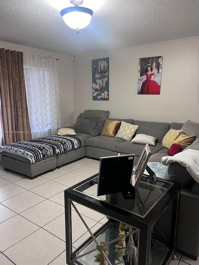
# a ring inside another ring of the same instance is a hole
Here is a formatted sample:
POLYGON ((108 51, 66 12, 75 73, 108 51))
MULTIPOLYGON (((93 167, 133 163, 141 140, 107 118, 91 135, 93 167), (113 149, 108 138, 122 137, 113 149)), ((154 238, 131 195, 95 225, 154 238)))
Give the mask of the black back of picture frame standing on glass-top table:
POLYGON ((100 158, 97 196, 127 190, 134 158, 135 154, 100 158))

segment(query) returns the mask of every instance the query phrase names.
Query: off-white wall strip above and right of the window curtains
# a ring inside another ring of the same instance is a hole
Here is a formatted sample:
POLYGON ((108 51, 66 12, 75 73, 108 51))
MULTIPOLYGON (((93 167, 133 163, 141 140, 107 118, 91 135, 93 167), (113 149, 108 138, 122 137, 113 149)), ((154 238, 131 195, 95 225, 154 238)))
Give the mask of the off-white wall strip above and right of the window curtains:
POLYGON ((25 53, 41 54, 60 58, 57 61, 61 126, 71 125, 74 120, 72 61, 70 56, 39 50, 27 46, 0 41, 0 48, 25 53))

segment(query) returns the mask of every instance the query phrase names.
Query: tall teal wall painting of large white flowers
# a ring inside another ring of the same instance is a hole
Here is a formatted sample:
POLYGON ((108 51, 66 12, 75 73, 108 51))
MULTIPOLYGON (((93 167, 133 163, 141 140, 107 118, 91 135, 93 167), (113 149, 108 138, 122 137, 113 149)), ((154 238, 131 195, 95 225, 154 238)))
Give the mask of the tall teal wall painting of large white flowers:
POLYGON ((92 60, 93 100, 109 100, 109 58, 92 60))

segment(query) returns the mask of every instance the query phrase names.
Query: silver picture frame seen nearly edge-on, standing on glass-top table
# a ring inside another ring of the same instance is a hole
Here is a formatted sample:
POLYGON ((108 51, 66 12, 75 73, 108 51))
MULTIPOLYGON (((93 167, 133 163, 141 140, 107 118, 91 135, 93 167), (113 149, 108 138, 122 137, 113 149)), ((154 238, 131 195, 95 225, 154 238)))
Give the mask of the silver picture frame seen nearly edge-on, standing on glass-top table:
POLYGON ((150 155, 151 155, 151 151, 150 151, 149 145, 146 144, 137 162, 135 170, 132 173, 131 184, 133 185, 134 188, 137 187, 137 185, 139 184, 141 180, 141 177, 143 176, 143 173, 145 171, 150 155))

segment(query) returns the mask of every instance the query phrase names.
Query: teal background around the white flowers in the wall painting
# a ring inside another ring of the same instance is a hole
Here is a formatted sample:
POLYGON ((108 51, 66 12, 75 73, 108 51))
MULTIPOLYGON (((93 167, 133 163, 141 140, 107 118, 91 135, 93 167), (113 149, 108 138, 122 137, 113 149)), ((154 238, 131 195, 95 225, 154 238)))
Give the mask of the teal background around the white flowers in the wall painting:
MULTIPOLYGON (((103 99, 100 99, 98 97, 101 96, 102 93, 104 93, 105 91, 108 92, 108 96, 109 96, 109 57, 92 60, 92 89, 93 89, 93 83, 97 85, 97 81, 96 81, 97 79, 101 80, 101 79, 105 79, 105 78, 107 78, 107 80, 105 82, 105 86, 104 86, 103 91, 97 93, 95 96, 93 95, 94 92, 92 92, 93 100, 101 100, 102 101, 103 99), (99 61, 102 62, 102 60, 107 62, 106 70, 108 70, 108 75, 101 75, 100 77, 96 78, 95 75, 99 71, 99 61), (96 66, 96 70, 93 69, 94 66, 96 66)), ((109 100, 109 99, 107 99, 107 100, 109 100)))

